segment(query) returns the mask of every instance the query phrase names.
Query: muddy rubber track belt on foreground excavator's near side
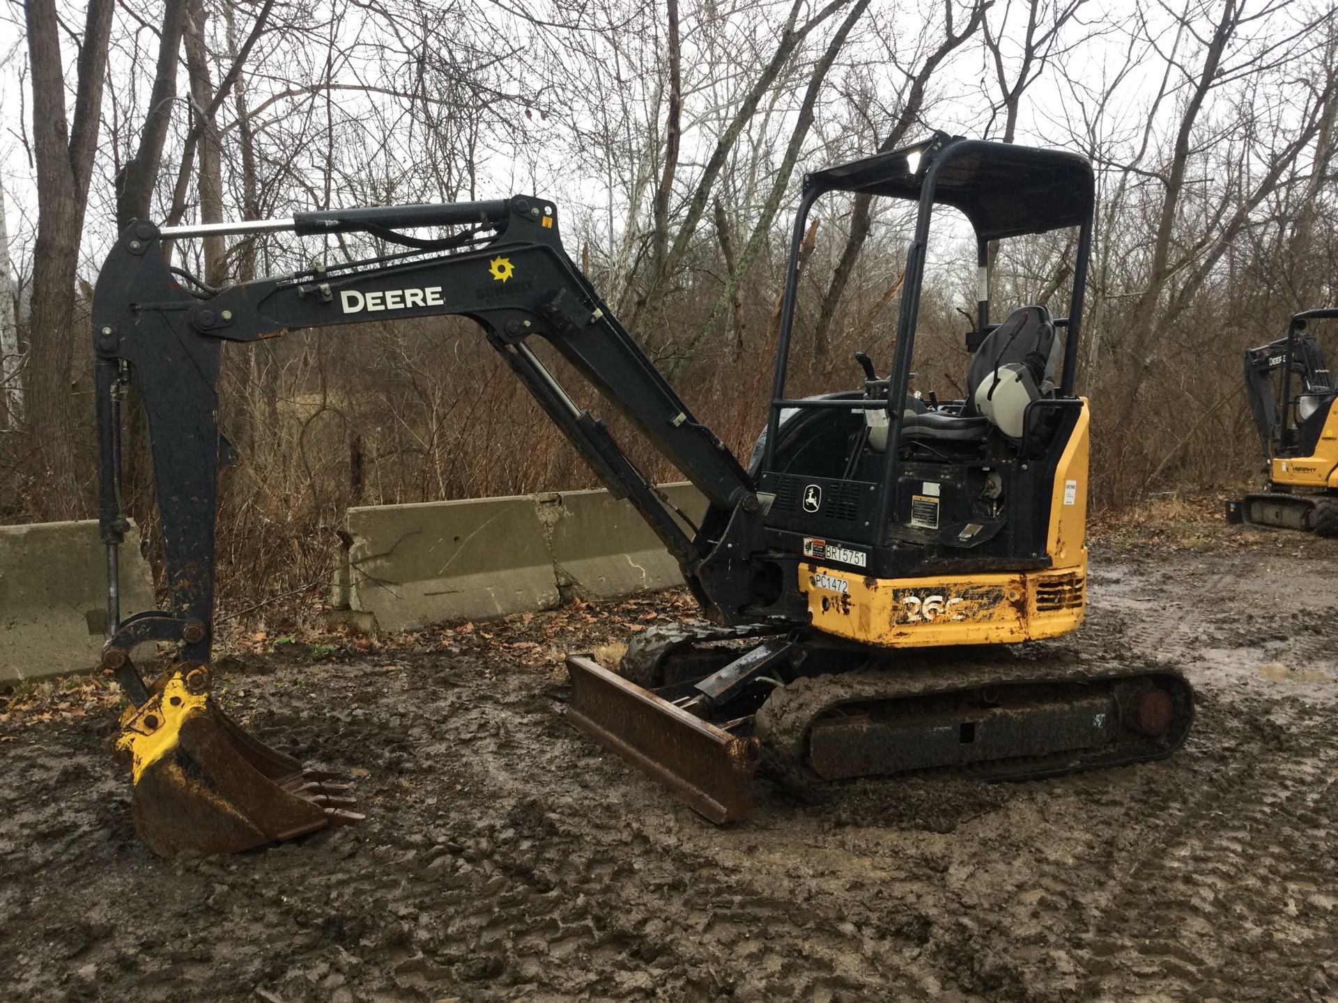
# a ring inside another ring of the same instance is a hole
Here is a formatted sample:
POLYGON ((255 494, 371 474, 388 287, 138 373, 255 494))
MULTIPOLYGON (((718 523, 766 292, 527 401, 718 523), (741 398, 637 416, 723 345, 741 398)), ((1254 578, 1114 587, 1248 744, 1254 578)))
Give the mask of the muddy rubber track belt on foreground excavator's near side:
POLYGON ((775 690, 757 711, 753 734, 761 740, 763 765, 785 786, 797 793, 811 793, 827 784, 804 765, 808 730, 819 718, 851 703, 886 702, 957 691, 971 694, 982 687, 1017 685, 1103 683, 1148 679, 1168 689, 1176 715, 1161 738, 1139 737, 1127 746, 1105 746, 1092 756, 1066 752, 1054 756, 1002 760, 974 764, 970 768, 946 768, 970 772, 986 780, 1038 780, 1076 773, 1085 769, 1120 766, 1129 762, 1159 760, 1184 745, 1193 719, 1193 693, 1184 677, 1167 666, 1148 665, 1147 671, 1131 673, 1124 667, 1074 667, 1066 658, 962 661, 917 665, 899 670, 854 671, 840 675, 801 678, 775 690))

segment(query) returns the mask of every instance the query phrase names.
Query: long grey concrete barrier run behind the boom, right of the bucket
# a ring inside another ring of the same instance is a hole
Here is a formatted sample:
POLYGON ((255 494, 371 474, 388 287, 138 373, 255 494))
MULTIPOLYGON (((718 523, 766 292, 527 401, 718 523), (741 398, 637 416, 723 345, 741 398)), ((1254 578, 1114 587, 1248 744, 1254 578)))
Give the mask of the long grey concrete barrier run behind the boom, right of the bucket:
MULTIPOLYGON (((690 484, 665 491, 693 520, 705 512, 690 484)), ((606 491, 351 508, 345 527, 330 604, 375 615, 380 630, 682 584, 650 527, 606 491)))

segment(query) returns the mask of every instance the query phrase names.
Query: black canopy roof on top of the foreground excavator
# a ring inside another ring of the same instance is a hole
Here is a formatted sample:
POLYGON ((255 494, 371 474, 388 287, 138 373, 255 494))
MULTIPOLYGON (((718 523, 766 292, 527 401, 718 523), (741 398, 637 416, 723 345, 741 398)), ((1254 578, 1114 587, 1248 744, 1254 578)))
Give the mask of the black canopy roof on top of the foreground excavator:
POLYGON ((1096 182, 1085 156, 943 132, 809 174, 805 187, 918 202, 931 178, 934 203, 961 210, 982 241, 1078 226, 1092 217, 1096 182))

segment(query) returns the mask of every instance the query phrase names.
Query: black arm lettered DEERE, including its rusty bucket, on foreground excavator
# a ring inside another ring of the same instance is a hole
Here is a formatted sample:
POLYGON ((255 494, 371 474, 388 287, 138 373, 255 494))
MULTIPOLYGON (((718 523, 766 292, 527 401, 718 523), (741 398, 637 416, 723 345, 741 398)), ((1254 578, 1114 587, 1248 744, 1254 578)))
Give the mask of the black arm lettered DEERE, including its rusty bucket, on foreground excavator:
POLYGON ((629 499, 664 540, 706 615, 725 626, 764 618, 749 591, 755 575, 748 564, 767 550, 752 479, 693 417, 562 250, 553 203, 515 197, 238 225, 230 231, 361 231, 409 250, 217 290, 165 261, 165 239, 225 229, 132 223, 108 254, 94 297, 99 516, 108 554, 103 666, 131 702, 119 748, 135 776, 136 829, 151 847, 169 855, 182 848, 229 852, 352 817, 345 789, 256 742, 210 697, 217 469, 235 456, 218 429, 223 341, 375 320, 472 318, 601 481, 629 499), (472 229, 446 239, 399 233, 423 226, 472 229), (706 496, 694 536, 605 423, 578 407, 542 364, 530 346, 537 336, 706 496), (170 608, 122 621, 116 548, 128 523, 120 500, 119 408, 131 373, 149 421, 170 608), (145 642, 170 642, 181 653, 154 683, 130 658, 145 642), (202 812, 201 820, 183 825, 183 806, 202 812))

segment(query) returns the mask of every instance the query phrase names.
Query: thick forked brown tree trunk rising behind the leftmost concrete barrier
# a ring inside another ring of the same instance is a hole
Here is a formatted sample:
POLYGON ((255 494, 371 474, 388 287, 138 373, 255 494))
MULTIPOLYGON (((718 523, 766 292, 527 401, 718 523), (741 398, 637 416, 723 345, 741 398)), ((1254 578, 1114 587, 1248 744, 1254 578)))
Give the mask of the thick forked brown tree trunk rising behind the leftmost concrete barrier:
POLYGON ((37 174, 37 239, 32 249, 29 428, 47 485, 48 519, 80 511, 70 376, 74 358, 75 270, 98 144, 107 39, 114 0, 90 0, 79 47, 72 127, 66 118, 62 27, 55 0, 28 0, 32 74, 32 152, 37 174))

